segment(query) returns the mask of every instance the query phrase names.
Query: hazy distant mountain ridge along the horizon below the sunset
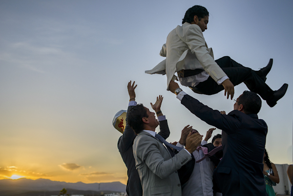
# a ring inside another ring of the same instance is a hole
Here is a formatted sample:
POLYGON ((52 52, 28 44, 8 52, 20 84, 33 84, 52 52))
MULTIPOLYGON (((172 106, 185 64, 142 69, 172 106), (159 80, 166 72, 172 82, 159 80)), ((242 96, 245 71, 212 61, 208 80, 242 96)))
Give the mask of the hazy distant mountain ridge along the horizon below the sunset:
POLYGON ((21 178, 17 180, 0 180, 0 195, 11 191, 13 191, 15 195, 17 195, 16 193, 22 193, 23 191, 61 191, 63 188, 81 191, 126 192, 126 185, 122 184, 121 182, 85 184, 83 182, 58 182, 42 178, 37 180, 31 180, 26 178, 21 178))

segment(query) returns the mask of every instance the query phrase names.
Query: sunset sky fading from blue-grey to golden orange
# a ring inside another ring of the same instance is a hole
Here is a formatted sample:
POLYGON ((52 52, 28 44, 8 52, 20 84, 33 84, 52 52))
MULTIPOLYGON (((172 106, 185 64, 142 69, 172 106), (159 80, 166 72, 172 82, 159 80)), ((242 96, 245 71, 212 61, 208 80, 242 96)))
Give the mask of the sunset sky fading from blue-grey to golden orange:
MULTIPOLYGON (((186 125, 205 135, 211 126, 166 90, 166 76, 145 74, 164 60, 168 33, 195 4, 209 11, 204 37, 215 59, 258 70, 273 58, 266 83, 289 84, 274 108, 263 101, 258 116, 269 127, 271 161, 292 164, 292 0, 0 0, 0 179, 126 184, 112 119, 127 109, 130 80, 148 108, 164 96, 167 141, 178 141, 186 125)), ((213 109, 233 109, 223 91, 182 88, 213 109)), ((235 98, 244 90, 235 87, 235 98)))

